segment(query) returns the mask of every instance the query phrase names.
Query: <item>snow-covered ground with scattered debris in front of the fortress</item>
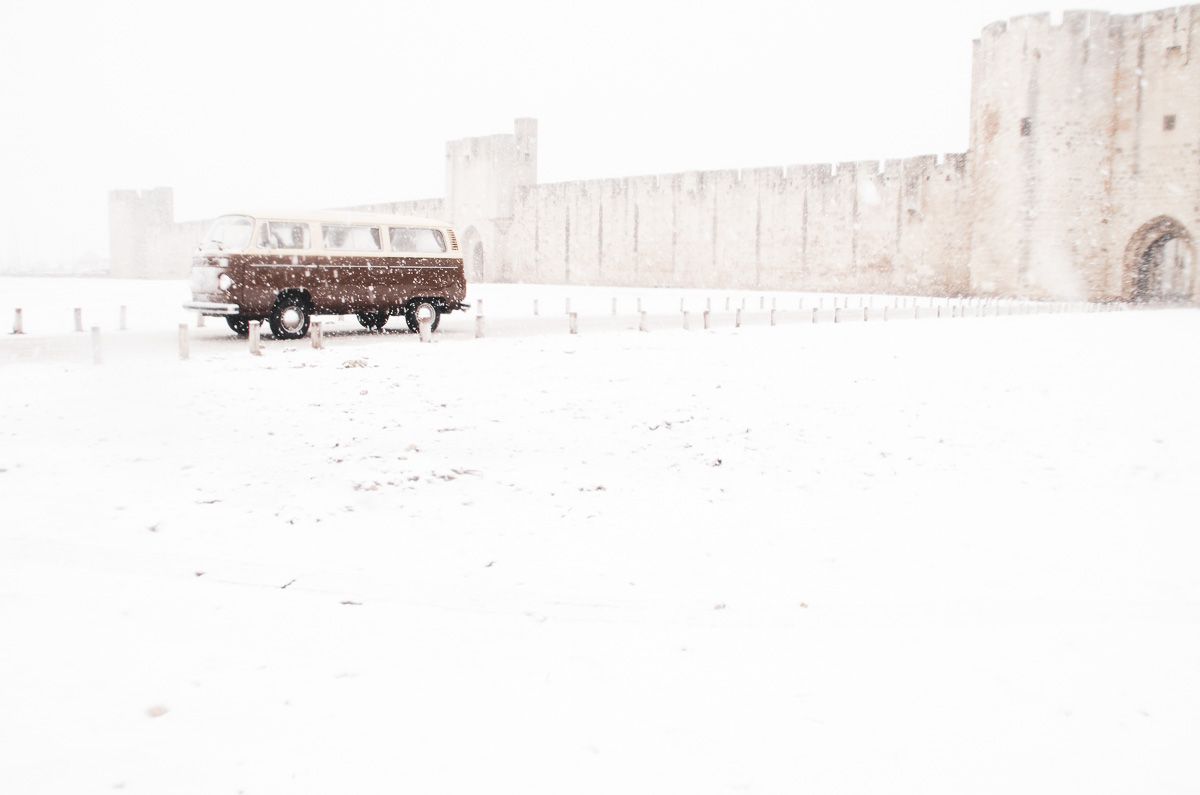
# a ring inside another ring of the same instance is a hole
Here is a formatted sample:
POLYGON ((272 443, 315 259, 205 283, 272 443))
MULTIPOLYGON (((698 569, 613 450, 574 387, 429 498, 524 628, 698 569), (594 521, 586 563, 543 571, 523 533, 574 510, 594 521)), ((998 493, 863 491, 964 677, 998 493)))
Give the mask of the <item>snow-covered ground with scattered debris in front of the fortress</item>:
POLYGON ((480 297, 0 280, 0 791, 1200 790, 1200 311, 480 297))

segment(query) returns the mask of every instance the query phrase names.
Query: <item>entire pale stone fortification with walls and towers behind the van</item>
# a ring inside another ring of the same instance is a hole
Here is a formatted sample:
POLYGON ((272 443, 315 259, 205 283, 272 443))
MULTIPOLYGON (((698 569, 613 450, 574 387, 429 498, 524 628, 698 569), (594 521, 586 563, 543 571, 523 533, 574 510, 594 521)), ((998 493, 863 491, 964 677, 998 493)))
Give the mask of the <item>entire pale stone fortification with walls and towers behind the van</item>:
MULTIPOLYGON (((186 274, 170 205, 113 192, 114 275, 186 274)), ((445 199, 362 209, 450 220, 476 280, 1194 299, 1200 6, 989 25, 965 154, 539 184, 518 119, 446 144, 445 199)))

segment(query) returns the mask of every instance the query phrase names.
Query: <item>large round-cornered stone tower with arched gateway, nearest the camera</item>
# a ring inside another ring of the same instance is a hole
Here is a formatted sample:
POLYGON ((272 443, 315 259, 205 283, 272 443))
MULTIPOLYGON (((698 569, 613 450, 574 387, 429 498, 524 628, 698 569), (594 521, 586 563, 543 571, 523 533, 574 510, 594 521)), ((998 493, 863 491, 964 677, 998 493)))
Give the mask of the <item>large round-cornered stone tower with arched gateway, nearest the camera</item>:
POLYGON ((973 291, 1190 297, 1200 7, 1018 17, 974 42, 973 291))

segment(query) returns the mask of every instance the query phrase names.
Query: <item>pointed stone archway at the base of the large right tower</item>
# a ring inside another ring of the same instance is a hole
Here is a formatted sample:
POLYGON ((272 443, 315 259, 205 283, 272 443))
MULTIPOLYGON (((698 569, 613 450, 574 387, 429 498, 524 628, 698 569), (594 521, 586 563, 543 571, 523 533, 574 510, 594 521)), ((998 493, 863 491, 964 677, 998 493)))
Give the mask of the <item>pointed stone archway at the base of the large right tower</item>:
POLYGON ((1187 228, 1160 215, 1138 229, 1124 255, 1124 295, 1132 301, 1189 301, 1195 295, 1195 247, 1187 228))

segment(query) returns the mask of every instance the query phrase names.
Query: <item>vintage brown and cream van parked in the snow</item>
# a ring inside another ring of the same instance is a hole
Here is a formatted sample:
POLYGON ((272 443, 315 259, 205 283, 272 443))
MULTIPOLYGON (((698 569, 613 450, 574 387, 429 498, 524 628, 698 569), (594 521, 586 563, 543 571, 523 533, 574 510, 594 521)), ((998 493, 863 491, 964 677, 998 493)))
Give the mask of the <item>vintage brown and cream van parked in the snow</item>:
POLYGON ((454 229, 430 219, 367 213, 222 215, 192 259, 184 309, 221 316, 238 334, 265 321, 277 337, 308 333, 313 315, 358 315, 382 329, 402 315, 436 329, 467 293, 454 229))

